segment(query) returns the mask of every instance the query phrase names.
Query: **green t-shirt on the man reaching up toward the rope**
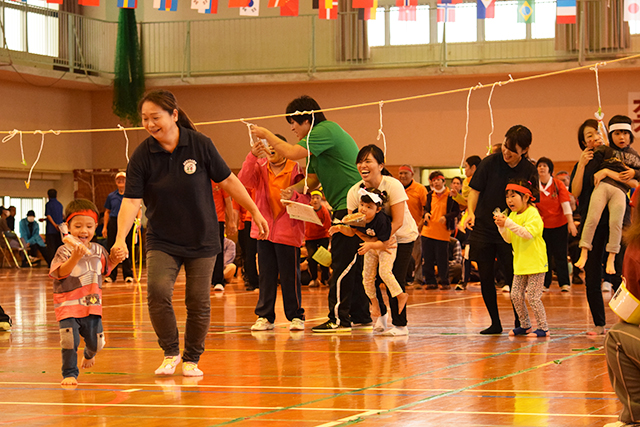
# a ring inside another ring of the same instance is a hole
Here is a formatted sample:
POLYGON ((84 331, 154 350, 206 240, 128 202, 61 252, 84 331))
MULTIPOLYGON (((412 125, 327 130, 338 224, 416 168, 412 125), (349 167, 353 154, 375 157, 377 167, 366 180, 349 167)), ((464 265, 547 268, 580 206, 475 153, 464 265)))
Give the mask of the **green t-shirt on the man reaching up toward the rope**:
POLYGON ((347 193, 361 180, 356 168, 358 146, 337 123, 325 120, 313 127, 310 135, 298 142, 309 151, 309 173, 318 175, 327 201, 334 211, 347 208, 347 193))

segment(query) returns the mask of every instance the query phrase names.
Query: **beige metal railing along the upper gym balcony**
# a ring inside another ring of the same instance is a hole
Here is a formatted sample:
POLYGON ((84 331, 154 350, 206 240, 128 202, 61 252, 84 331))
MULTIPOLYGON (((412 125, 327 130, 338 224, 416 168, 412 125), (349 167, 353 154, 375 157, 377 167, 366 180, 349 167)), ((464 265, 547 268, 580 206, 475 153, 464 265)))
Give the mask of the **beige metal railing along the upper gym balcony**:
MULTIPOLYGON (((597 21, 599 8, 604 7, 600 1, 579 2, 578 28, 586 31, 588 27, 590 33, 580 33, 582 37, 569 40, 562 49, 557 48, 555 38, 534 39, 531 24, 526 24, 526 36, 521 40, 486 41, 484 21, 477 21, 475 40, 447 42, 446 37, 438 35, 437 27, 441 24, 436 22, 435 0, 430 1, 434 4, 429 6, 429 22, 424 24, 425 31, 430 32, 429 43, 419 45, 385 43, 368 47, 364 42, 366 27, 358 23, 355 15, 344 14, 338 20, 304 15, 139 23, 144 70, 149 77, 185 78, 584 61, 640 52, 640 35, 632 36, 630 46, 625 48, 601 43, 599 38, 608 40, 611 35, 604 30, 591 30, 601 25, 597 21)), ((502 3, 506 7, 507 2, 498 2, 496 9, 503 7, 502 3)), ((475 3, 462 6, 474 7, 475 3)), ((378 13, 378 19, 386 22, 387 32, 390 13, 389 8, 378 13)), ((115 22, 4 0, 0 0, 0 22, 3 36, 0 60, 104 77, 113 74, 115 22)))

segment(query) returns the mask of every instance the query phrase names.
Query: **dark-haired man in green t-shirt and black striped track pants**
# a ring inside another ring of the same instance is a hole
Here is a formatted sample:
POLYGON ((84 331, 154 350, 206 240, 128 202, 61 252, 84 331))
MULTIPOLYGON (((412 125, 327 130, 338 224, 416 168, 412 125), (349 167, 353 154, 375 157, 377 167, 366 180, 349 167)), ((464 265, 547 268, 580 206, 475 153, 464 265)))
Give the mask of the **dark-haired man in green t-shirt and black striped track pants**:
MULTIPOLYGON (((341 219, 347 214, 347 192, 361 180, 356 169, 358 146, 353 138, 337 123, 327 120, 320 105, 309 96, 294 99, 287 106, 287 121, 299 139, 290 145, 268 129, 253 126, 251 132, 266 139, 275 151, 291 160, 309 158, 308 191, 322 185, 327 201, 333 208, 333 217, 341 219), (313 111, 313 113, 311 113, 313 111), (294 114, 294 113, 306 114, 294 114)), ((304 190, 305 181, 294 186, 304 190)), ((314 327, 313 332, 351 330, 351 322, 368 324, 369 302, 362 286, 362 266, 357 260, 360 244, 358 237, 341 233, 331 238, 333 274, 329 281, 329 320, 314 327)))

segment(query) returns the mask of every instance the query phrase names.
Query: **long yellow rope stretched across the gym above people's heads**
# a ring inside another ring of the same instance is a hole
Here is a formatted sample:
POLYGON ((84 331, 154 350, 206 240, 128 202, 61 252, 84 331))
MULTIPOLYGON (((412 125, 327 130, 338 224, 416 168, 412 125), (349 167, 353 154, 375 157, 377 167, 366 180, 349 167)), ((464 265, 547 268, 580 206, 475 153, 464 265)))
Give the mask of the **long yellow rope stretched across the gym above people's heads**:
MULTIPOLYGON (((638 59, 640 58, 640 54, 636 54, 636 55, 631 55, 631 56, 625 56, 624 58, 618 58, 618 59, 613 59, 610 61, 607 61, 607 64, 613 64, 615 62, 622 62, 622 61, 629 61, 632 59, 638 59)), ((583 65, 581 67, 575 67, 575 68, 568 68, 566 70, 559 70, 559 71, 552 71, 549 73, 543 73, 543 74, 536 74, 534 76, 528 76, 528 77, 522 77, 519 79, 513 79, 512 81, 510 81, 510 83, 517 83, 517 82, 525 82, 528 80, 535 80, 535 79, 541 79, 544 77, 551 77, 551 76, 557 76, 560 74, 566 74, 566 73, 571 73, 574 71, 579 71, 579 70, 585 70, 585 69, 589 69, 591 67, 593 67, 594 64, 589 64, 589 65, 583 65)), ((484 87, 489 87, 491 86, 492 83, 486 84, 484 87)), ((413 95, 413 96, 407 96, 404 98, 396 98, 396 99, 389 99, 389 100, 383 100, 382 102, 384 102, 385 104, 389 104, 392 102, 404 102, 404 101, 413 101, 416 99, 423 99, 423 98, 430 98, 433 96, 440 96, 440 95, 449 95, 449 94, 453 94, 453 93, 460 93, 460 92, 467 92, 470 89, 472 89, 473 86, 471 87, 466 87, 466 88, 460 88, 460 89, 452 89, 452 90, 446 90, 443 92, 435 92, 435 93, 426 93, 426 94, 422 94, 422 95, 413 95)), ((340 110, 350 110, 353 108, 361 108, 361 107, 370 107, 370 106, 379 106, 380 105, 380 101, 374 101, 374 102, 365 102, 363 104, 354 104, 354 105, 346 105, 346 106, 342 106, 342 107, 333 107, 333 108, 323 108, 320 110, 315 110, 315 113, 319 113, 319 112, 328 112, 328 111, 340 111, 340 110)), ((199 123, 195 123, 196 126, 207 126, 207 125, 219 125, 219 124, 226 124, 226 123, 241 123, 242 121, 250 121, 250 122, 254 122, 257 120, 266 120, 266 119, 276 119, 276 118, 283 118, 283 117, 289 117, 292 116, 294 114, 310 114, 310 112, 308 111, 302 111, 302 112, 296 112, 293 114, 272 114, 269 116, 258 116, 258 117, 248 117, 248 118, 244 118, 244 119, 227 119, 227 120, 214 120, 214 121, 209 121, 209 122, 199 122, 199 123)), ((122 130, 143 130, 143 127, 130 127, 130 128, 104 128, 104 129, 69 129, 69 130, 60 130, 60 131, 56 131, 56 132, 60 132, 60 134, 71 134, 71 133, 96 133, 96 132, 116 132, 116 131, 122 131, 122 130)), ((0 131, 0 134, 10 134, 12 132, 15 132, 15 130, 13 131, 0 131)), ((23 131, 25 133, 33 133, 35 131, 23 131)), ((44 133, 54 133, 54 131, 50 130, 50 131, 45 131, 44 133)))

